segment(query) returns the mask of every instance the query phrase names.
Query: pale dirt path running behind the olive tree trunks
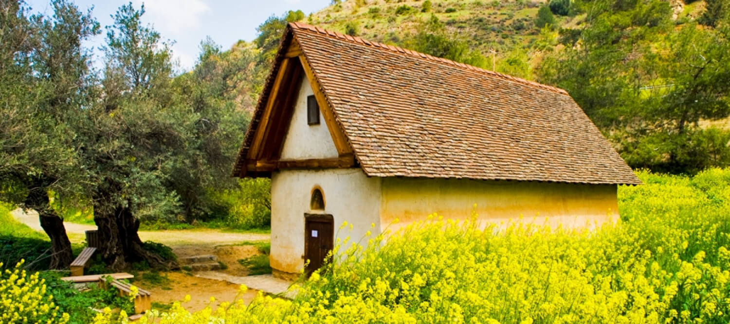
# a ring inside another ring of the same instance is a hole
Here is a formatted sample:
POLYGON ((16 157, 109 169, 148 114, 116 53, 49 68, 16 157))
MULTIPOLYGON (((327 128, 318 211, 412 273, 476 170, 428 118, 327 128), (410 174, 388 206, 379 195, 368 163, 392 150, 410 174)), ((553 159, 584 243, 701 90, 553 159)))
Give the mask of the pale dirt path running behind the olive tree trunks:
MULTIPOLYGON (((38 213, 31 211, 23 213, 23 210, 16 209, 12 211, 12 216, 23 224, 26 224, 39 232, 43 229, 38 221, 38 213)), ((85 240, 85 231, 96 229, 94 225, 74 224, 64 222, 66 233, 69 234, 69 240, 72 242, 82 242, 85 240)), ((269 234, 260 233, 229 233, 219 229, 183 229, 183 230, 164 230, 164 231, 139 231, 139 238, 142 241, 155 241, 164 245, 177 248, 183 246, 194 245, 199 248, 214 247, 215 245, 237 244, 244 241, 264 241, 269 240, 269 234)))

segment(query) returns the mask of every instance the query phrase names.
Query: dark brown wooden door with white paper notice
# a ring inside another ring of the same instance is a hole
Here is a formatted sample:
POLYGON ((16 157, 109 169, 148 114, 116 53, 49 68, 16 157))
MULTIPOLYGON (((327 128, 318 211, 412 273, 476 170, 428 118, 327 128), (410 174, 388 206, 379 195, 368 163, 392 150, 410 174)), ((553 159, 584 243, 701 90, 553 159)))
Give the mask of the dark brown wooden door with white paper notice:
POLYGON ((310 215, 304 219, 304 258, 310 261, 309 274, 322 267, 334 247, 334 224, 330 215, 310 215))

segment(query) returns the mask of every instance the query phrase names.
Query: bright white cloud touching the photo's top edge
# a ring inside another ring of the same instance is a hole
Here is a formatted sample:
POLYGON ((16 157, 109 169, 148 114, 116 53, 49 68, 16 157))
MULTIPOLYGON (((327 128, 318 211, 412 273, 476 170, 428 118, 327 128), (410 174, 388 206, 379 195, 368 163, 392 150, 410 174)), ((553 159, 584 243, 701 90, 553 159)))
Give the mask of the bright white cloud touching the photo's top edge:
POLYGON ((153 22, 155 29, 165 33, 180 33, 197 28, 200 17, 210 11, 201 0, 134 0, 139 6, 145 3, 147 21, 153 22))

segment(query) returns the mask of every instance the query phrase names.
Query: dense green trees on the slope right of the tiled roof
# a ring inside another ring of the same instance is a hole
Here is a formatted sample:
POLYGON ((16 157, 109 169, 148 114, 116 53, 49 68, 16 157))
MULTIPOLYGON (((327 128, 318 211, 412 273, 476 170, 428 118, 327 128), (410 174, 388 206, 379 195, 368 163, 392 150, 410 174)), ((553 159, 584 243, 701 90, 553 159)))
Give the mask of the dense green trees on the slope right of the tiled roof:
POLYGON ((699 124, 730 116, 730 29, 674 28, 664 1, 598 4, 585 28, 561 31, 580 47, 548 55, 541 81, 568 90, 631 166, 696 173, 728 165, 726 131, 699 124))

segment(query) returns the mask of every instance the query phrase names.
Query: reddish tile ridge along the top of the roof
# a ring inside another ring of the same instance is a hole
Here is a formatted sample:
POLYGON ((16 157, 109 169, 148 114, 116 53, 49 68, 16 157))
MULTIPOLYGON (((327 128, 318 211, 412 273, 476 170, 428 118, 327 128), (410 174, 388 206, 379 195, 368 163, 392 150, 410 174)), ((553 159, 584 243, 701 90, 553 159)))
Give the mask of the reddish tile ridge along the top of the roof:
POLYGON ((351 42, 351 43, 354 43, 354 44, 361 44, 361 45, 365 45, 365 46, 368 46, 368 47, 380 48, 382 50, 388 50, 388 51, 391 51, 391 52, 396 52, 396 53, 400 53, 400 54, 404 54, 404 55, 410 55, 410 56, 412 56, 414 58, 420 58, 420 59, 423 59, 423 60, 430 60, 430 61, 434 61, 434 62, 438 62, 438 63, 445 63, 445 64, 449 64, 451 66, 458 66, 460 68, 466 68, 467 70, 471 70, 471 71, 477 71, 477 72, 482 72, 482 73, 485 73, 485 74, 491 74, 493 76, 499 76, 500 78, 505 79, 505 80, 508 80, 508 81, 514 81, 514 82, 518 82, 518 83, 521 83, 521 84, 526 84, 526 85, 529 85, 529 86, 532 86, 532 87, 539 87, 539 88, 542 88, 544 90, 558 92, 558 93, 561 93, 563 95, 568 95, 568 92, 566 90, 563 90, 563 89, 558 88, 558 87, 553 87, 553 86, 550 86, 548 84, 542 84, 542 83, 530 81, 530 80, 527 80, 527 79, 522 79, 522 78, 519 78, 517 76, 510 76, 509 74, 503 74, 503 73, 499 73, 497 71, 490 71, 490 70, 487 70, 485 68, 477 68, 476 66, 470 66, 469 64, 459 63, 459 62, 456 62, 454 60, 448 60, 446 58, 437 58, 437 57, 435 57, 433 55, 428 55, 428 54, 424 54, 424 53, 421 53, 421 52, 416 52, 414 50, 408 50, 408 49, 405 49, 403 47, 397 47, 397 46, 393 46, 393 45, 383 44, 383 43, 380 43, 380 42, 372 42, 372 41, 369 41, 367 39, 363 39, 363 38, 358 37, 358 36, 350 36, 350 35, 345 35, 344 33, 338 33, 337 31, 329 31, 327 29, 324 29, 324 28, 321 28, 321 27, 318 27, 318 26, 314 26, 314 25, 310 25, 310 24, 307 24, 307 23, 294 22, 294 23, 289 23, 289 25, 293 29, 296 29, 296 30, 311 31, 311 32, 314 32, 314 33, 319 33, 319 34, 322 34, 322 35, 326 35, 326 36, 328 36, 330 38, 341 39, 341 40, 344 40, 344 41, 347 41, 347 42, 351 42))

